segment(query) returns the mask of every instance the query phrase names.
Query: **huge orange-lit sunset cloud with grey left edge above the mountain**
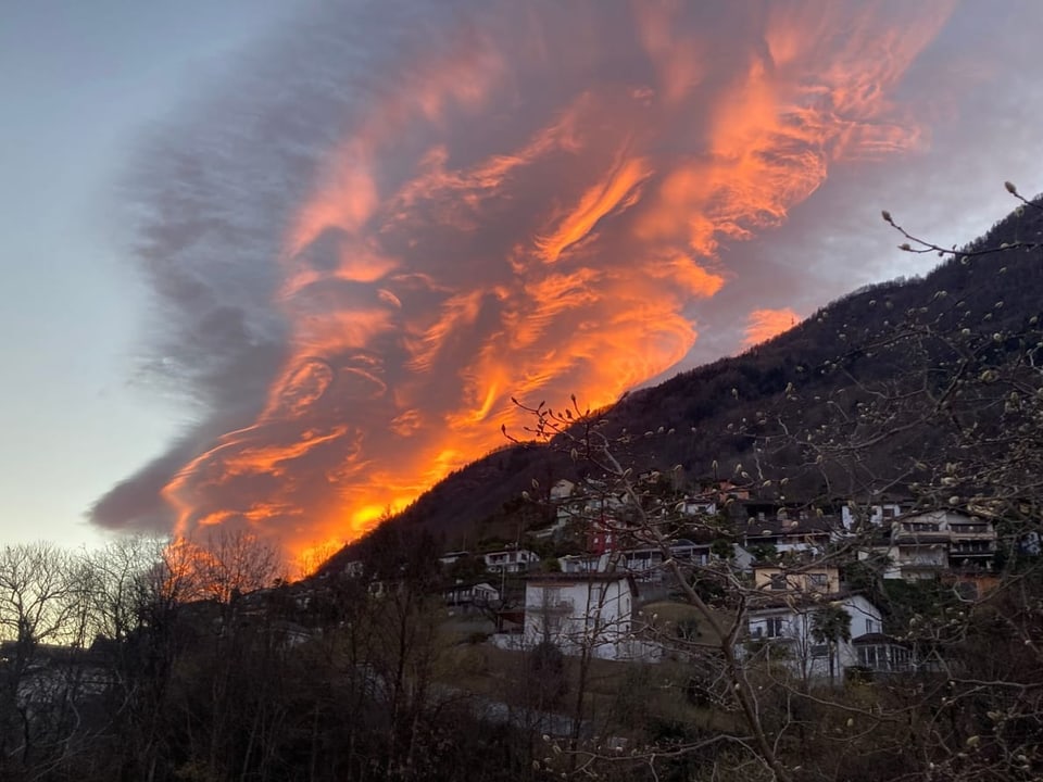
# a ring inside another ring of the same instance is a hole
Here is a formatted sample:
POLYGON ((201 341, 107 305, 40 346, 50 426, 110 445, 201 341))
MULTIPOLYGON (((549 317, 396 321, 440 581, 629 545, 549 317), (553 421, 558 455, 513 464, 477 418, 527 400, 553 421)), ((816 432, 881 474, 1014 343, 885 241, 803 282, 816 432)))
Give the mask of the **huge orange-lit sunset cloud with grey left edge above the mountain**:
MULTIPOLYGON (((301 554, 502 444, 512 395, 598 406, 667 370, 742 283, 722 243, 918 143, 893 92, 950 8, 376 5, 297 33, 302 72, 248 112, 262 138, 147 189, 142 256, 186 315, 161 350, 212 415, 101 524, 160 482, 180 531, 301 554)), ((746 343, 794 318, 753 313, 746 343)))

